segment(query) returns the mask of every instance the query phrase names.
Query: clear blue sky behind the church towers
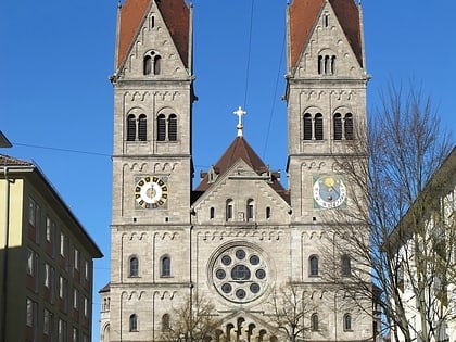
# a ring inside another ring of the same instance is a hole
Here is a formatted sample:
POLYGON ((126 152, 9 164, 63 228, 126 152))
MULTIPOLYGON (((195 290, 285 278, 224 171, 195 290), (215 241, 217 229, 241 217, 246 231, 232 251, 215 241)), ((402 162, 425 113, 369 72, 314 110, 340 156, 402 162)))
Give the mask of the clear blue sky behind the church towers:
MULTIPOLYGON (((195 181, 236 137, 274 169, 287 164, 286 0, 194 0, 195 181), (253 2, 252 2, 253 1, 253 2), (253 9, 253 12, 252 12, 253 9), (252 35, 250 35, 250 31, 252 35)), ((364 0, 368 109, 389 83, 413 81, 456 129, 456 2, 364 0)), ((93 341, 109 281, 117 0, 0 2, 0 130, 43 170, 105 257, 94 263, 93 341)))

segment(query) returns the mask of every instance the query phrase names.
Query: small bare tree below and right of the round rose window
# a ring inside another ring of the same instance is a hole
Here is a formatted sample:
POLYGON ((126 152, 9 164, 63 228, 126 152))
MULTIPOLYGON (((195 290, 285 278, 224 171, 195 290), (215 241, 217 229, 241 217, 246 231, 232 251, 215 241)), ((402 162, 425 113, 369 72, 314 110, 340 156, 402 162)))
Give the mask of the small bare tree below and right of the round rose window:
POLYGON ((269 301, 271 314, 269 322, 281 332, 280 341, 304 341, 311 331, 311 315, 316 305, 306 296, 299 283, 288 281, 286 286, 275 289, 269 301))

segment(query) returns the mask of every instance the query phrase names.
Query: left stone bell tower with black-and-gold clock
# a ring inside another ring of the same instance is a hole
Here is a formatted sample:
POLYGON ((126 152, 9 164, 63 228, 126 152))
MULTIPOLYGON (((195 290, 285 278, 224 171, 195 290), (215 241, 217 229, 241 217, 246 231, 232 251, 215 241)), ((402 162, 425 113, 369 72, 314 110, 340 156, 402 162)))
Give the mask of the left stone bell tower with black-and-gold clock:
MULTIPOLYGON (((131 312, 154 315, 157 289, 169 282, 188 289, 189 266, 170 279, 165 251, 186 245, 190 229, 192 73, 192 9, 185 0, 119 4, 111 77, 111 341, 128 340, 135 331, 131 312)), ((181 250, 173 257, 185 265, 188 254, 181 250)), ((135 339, 150 340, 154 322, 142 325, 135 339)))

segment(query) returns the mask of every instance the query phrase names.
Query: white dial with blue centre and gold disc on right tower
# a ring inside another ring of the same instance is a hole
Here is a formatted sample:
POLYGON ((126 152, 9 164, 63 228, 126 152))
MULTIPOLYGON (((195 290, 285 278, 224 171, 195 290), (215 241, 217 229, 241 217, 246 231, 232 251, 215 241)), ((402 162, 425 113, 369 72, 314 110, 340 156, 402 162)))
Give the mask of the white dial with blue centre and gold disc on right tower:
POLYGON ((314 207, 333 208, 345 202, 346 187, 343 176, 314 176, 314 207))

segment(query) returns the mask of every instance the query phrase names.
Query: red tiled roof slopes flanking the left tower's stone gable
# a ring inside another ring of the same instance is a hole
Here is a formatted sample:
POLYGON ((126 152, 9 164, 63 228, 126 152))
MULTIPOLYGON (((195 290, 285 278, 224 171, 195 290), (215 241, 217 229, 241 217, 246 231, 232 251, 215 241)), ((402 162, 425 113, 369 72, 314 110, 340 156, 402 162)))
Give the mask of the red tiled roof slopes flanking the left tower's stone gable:
POLYGON ((153 2, 165 21, 183 65, 189 67, 190 9, 185 0, 126 0, 118 10, 116 68, 125 62, 153 2))

